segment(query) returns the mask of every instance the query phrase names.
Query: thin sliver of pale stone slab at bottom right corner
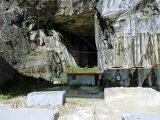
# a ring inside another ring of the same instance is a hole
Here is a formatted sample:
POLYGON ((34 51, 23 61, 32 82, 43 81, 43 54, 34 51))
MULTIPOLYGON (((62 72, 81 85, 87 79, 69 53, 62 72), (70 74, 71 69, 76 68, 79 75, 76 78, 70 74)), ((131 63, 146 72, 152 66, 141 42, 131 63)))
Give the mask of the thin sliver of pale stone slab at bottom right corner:
POLYGON ((122 120, 160 120, 160 114, 124 114, 122 120))

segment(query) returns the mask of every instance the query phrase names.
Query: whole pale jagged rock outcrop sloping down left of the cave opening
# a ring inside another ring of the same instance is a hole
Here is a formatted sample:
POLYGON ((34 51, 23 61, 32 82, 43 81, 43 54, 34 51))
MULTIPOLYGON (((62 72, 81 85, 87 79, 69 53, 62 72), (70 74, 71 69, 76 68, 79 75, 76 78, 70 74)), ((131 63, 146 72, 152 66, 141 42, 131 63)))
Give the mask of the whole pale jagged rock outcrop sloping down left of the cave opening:
POLYGON ((50 36, 44 33, 44 30, 32 32, 32 41, 38 41, 39 45, 25 56, 21 73, 35 78, 43 78, 53 81, 56 74, 55 69, 64 72, 69 65, 75 65, 76 62, 67 50, 66 46, 61 42, 61 34, 55 30, 50 30, 50 36), (38 37, 37 34, 39 34, 38 37))

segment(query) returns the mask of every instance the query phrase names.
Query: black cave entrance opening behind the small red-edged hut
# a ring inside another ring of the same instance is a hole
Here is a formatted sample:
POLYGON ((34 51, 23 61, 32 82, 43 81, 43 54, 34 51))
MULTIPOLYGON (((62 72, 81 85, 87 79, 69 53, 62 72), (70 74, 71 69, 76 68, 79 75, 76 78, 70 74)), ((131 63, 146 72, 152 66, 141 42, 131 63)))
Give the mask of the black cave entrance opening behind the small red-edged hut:
POLYGON ((71 35, 67 48, 80 67, 97 66, 97 49, 93 36, 82 37, 71 35))

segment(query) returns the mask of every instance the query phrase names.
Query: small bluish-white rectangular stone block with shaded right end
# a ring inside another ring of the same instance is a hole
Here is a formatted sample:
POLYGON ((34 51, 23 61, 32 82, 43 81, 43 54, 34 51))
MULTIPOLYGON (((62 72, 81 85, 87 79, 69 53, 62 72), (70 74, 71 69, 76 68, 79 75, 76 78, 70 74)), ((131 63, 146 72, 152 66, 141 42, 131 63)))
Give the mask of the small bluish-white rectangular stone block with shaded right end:
POLYGON ((46 91, 46 92, 32 92, 27 95, 27 107, 34 106, 57 106, 63 105, 66 101, 65 91, 46 91))

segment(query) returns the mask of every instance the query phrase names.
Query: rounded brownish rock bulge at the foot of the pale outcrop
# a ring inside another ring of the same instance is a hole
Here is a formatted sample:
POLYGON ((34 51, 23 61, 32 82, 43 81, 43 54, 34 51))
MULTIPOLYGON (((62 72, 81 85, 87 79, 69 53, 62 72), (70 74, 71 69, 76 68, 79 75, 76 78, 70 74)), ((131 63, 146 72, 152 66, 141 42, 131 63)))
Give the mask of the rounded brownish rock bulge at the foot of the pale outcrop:
POLYGON ((38 51, 38 49, 26 55, 24 64, 21 66, 21 73, 53 82, 52 77, 56 66, 53 58, 54 51, 47 50, 47 48, 44 48, 43 51, 38 51))

